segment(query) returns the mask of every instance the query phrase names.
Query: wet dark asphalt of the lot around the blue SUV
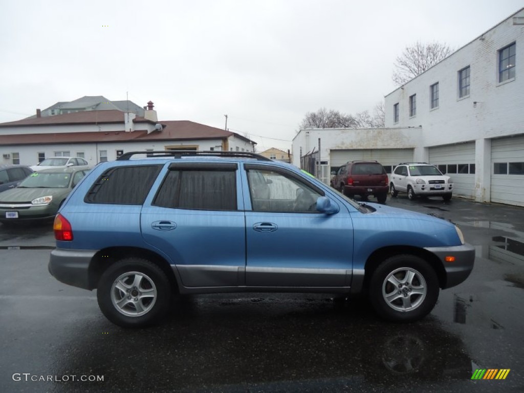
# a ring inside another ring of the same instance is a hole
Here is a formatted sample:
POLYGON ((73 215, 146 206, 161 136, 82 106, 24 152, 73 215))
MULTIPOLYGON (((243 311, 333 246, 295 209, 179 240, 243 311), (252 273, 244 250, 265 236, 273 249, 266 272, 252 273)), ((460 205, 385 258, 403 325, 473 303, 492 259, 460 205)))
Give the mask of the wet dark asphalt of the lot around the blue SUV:
POLYGON ((453 221, 476 248, 472 275, 417 323, 330 295, 251 293, 184 297, 166 323, 124 330, 94 291, 49 275, 50 223, 0 224, 0 392, 524 391, 524 208, 386 203, 453 221), (476 369, 510 372, 471 380, 476 369))

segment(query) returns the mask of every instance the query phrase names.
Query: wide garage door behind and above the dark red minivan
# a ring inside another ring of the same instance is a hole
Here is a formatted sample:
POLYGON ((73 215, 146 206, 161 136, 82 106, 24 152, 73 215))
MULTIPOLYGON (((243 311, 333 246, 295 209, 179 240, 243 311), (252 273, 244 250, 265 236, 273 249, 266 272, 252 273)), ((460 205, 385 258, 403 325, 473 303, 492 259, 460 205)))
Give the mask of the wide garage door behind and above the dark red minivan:
POLYGON ((380 162, 388 173, 391 167, 399 165, 400 162, 413 161, 413 149, 355 149, 355 150, 331 150, 331 169, 337 169, 347 161, 353 160, 376 160, 380 162))

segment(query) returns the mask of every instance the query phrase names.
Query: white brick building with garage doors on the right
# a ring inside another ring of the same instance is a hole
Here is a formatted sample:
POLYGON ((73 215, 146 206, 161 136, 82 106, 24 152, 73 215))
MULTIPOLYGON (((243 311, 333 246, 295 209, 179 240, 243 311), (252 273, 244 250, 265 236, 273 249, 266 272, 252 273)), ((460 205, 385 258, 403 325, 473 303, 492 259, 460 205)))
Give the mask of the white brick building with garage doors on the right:
POLYGON ((300 130, 295 163, 321 138, 325 165, 430 162, 455 195, 524 206, 523 64, 524 8, 388 94, 385 129, 300 130))

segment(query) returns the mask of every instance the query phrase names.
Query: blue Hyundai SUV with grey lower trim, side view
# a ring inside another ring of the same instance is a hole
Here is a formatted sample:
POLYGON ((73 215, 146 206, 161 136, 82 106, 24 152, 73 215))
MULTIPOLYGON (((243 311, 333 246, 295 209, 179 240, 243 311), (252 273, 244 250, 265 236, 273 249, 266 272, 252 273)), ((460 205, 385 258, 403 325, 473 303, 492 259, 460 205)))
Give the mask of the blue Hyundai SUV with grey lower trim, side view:
POLYGON ((49 271, 97 289, 104 315, 158 323, 173 295, 364 294, 392 321, 423 318, 464 281, 474 248, 430 215, 357 203, 247 152, 129 152, 97 165, 54 221, 49 271))

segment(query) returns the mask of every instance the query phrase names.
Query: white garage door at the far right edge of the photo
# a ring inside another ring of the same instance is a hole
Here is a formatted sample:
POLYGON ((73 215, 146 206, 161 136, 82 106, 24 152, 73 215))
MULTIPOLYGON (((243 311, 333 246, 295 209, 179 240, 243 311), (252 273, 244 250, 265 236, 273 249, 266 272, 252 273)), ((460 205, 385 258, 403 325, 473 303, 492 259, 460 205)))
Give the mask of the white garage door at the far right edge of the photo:
POLYGON ((524 206, 524 136, 492 139, 492 202, 524 206))

